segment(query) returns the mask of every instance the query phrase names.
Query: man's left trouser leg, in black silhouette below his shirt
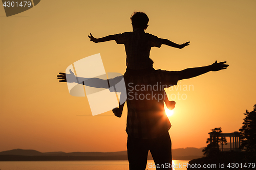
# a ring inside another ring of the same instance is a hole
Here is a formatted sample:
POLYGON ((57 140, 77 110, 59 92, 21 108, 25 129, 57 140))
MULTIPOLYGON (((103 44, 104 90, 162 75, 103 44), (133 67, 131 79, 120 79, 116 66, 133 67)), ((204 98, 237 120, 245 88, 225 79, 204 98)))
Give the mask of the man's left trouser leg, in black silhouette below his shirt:
POLYGON ((127 155, 130 170, 145 170, 147 163, 147 139, 138 139, 128 136, 127 155))

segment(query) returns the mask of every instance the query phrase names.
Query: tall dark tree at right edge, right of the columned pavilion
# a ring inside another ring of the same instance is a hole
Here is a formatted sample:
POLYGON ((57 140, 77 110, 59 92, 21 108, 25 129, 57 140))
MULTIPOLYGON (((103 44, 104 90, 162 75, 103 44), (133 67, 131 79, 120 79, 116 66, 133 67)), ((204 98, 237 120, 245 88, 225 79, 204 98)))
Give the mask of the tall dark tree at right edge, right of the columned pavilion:
POLYGON ((246 110, 244 115, 243 126, 239 129, 241 132, 240 149, 246 152, 247 162, 256 162, 256 105, 254 105, 253 111, 246 110))

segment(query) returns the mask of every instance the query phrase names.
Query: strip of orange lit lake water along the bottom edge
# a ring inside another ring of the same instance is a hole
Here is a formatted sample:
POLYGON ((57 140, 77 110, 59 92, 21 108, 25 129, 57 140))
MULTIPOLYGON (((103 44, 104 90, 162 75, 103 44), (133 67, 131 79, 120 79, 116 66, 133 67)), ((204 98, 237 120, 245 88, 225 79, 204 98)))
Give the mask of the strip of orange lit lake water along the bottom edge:
MULTIPOLYGON (((188 160, 173 160, 174 170, 185 170, 188 160), (184 166, 182 166, 184 165, 184 166)), ((128 161, 0 161, 1 170, 128 170, 128 161)), ((155 170, 148 160, 148 170, 155 170)))

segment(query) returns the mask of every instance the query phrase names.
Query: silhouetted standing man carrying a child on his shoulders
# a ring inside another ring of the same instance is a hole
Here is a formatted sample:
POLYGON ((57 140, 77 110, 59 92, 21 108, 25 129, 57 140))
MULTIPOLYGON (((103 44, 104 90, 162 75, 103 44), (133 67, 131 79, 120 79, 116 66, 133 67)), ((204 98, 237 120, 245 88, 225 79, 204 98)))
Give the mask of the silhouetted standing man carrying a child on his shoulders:
MULTIPOLYGON (((172 169, 172 142, 168 130, 170 122, 164 111, 164 88, 177 85, 209 71, 228 67, 226 62, 215 62, 208 66, 187 68, 181 71, 142 69, 126 71, 124 81, 127 92, 127 155, 130 170, 144 170, 148 151, 157 169, 172 169)), ((60 73, 60 82, 67 81, 60 73)))

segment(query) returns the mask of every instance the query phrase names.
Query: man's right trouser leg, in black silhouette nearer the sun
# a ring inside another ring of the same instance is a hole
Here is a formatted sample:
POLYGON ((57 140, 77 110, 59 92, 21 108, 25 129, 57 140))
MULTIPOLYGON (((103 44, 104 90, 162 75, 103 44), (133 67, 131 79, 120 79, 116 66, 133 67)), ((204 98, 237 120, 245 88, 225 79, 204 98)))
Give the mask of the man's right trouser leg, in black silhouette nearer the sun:
POLYGON ((172 169, 172 141, 168 132, 151 140, 150 152, 157 169, 172 169))

